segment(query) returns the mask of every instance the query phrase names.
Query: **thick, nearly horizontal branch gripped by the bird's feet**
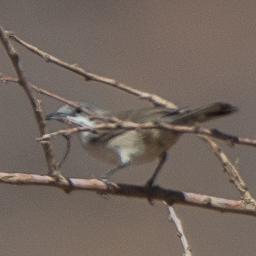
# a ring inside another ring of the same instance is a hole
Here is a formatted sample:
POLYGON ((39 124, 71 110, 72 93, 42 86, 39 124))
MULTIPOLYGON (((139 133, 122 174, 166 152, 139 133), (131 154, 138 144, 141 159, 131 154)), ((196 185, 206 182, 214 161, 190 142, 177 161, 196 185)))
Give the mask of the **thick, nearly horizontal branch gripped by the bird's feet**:
POLYGON ((225 198, 217 198, 214 196, 164 189, 159 186, 155 186, 150 189, 147 186, 136 186, 131 184, 106 184, 102 180, 97 179, 70 179, 70 184, 61 184, 47 175, 43 176, 27 173, 5 172, 0 172, 0 183, 15 185, 51 186, 54 188, 65 189, 68 191, 86 190, 94 191, 95 193, 145 199, 150 196, 152 200, 164 201, 168 205, 191 205, 213 211, 233 212, 236 214, 256 216, 255 202, 248 202, 243 200, 229 200, 225 198))

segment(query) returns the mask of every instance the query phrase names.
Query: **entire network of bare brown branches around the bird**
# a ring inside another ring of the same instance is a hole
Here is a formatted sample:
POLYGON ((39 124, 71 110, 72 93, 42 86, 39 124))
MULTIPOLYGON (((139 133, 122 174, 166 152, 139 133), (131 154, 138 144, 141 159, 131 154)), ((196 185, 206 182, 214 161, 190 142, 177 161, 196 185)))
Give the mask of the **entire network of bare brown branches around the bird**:
MULTIPOLYGON (((3 28, 0 27, 0 39, 2 41, 2 44, 4 45, 4 48, 6 49, 10 60, 12 61, 13 68, 15 69, 15 72, 17 74, 17 78, 13 78, 8 75, 4 75, 3 73, 0 73, 0 81, 11 81, 19 83, 24 92, 26 92, 40 131, 40 138, 38 138, 38 141, 41 141, 42 147, 44 148, 45 159, 47 161, 49 169, 49 175, 0 172, 0 183, 15 185, 51 186, 54 188, 63 189, 68 192, 75 190, 84 190, 104 195, 109 194, 116 196, 129 196, 134 198, 150 198, 152 200, 163 201, 167 205, 182 204, 209 209, 213 211, 232 212, 236 214, 251 216, 256 215, 256 202, 246 188, 246 184, 244 183, 244 180, 239 174, 236 166, 234 166, 234 164, 229 161, 228 157, 224 154, 221 148, 218 147, 218 145, 214 141, 212 141, 209 136, 211 136, 212 138, 218 138, 220 140, 228 141, 232 145, 240 144, 250 145, 252 147, 256 146, 256 140, 252 138, 243 138, 230 135, 218 131, 217 129, 205 129, 204 127, 188 127, 183 125, 170 124, 136 124, 133 122, 124 122, 122 120, 119 120, 115 116, 97 115, 89 109, 81 108, 81 106, 79 106, 79 102, 74 102, 72 100, 60 97, 59 95, 48 92, 47 90, 44 90, 43 88, 40 88, 35 84, 27 81, 22 70, 19 54, 10 43, 9 38, 14 40, 15 42, 18 42, 20 45, 26 47, 26 49, 34 52, 41 58, 44 58, 45 61, 66 68, 67 70, 70 70, 78 74, 79 76, 83 76, 86 81, 97 81, 99 83, 108 84, 109 86, 113 86, 114 88, 117 88, 124 92, 131 93, 139 99, 148 100, 149 102, 152 102, 155 106, 177 108, 177 106, 175 106, 175 104, 173 104, 172 102, 169 102, 168 100, 165 100, 157 95, 142 92, 141 90, 132 88, 127 84, 118 83, 114 79, 109 79, 106 77, 98 76, 96 74, 92 74, 90 72, 86 72, 86 70, 78 67, 78 65, 67 63, 52 56, 51 54, 48 54, 47 52, 41 51, 37 47, 28 44, 28 42, 25 42, 24 40, 19 38, 19 36, 15 35, 13 32, 4 31, 3 28), (61 102, 65 102, 66 104, 74 106, 75 108, 81 108, 82 111, 88 113, 91 118, 101 119, 106 122, 104 124, 95 125, 95 127, 72 127, 69 129, 48 133, 44 121, 44 115, 42 113, 42 108, 40 106, 40 100, 36 99, 33 91, 60 100, 61 102), (207 145, 211 148, 212 152, 214 152, 215 156, 218 157, 223 168, 227 170, 228 174, 230 175, 231 181, 234 182, 234 185, 238 189, 239 193, 241 193, 243 200, 229 200, 226 198, 217 198, 209 195, 200 195, 196 193, 164 189, 159 186, 148 188, 147 186, 135 186, 132 184, 115 184, 110 182, 105 183, 102 180, 97 179, 67 180, 60 173, 60 166, 56 163, 56 159, 54 157, 51 143, 49 140, 51 140, 52 137, 61 134, 70 136, 74 132, 97 131, 99 129, 167 129, 176 132, 187 132, 200 135, 200 138, 202 138, 202 140, 207 143, 207 145)), ((189 247, 188 241, 186 241, 186 237, 184 235, 180 220, 175 215, 175 212, 171 206, 169 206, 168 209, 170 211, 170 219, 173 220, 179 232, 180 241, 182 242, 182 246, 184 248, 184 255, 191 255, 191 248, 189 247)))

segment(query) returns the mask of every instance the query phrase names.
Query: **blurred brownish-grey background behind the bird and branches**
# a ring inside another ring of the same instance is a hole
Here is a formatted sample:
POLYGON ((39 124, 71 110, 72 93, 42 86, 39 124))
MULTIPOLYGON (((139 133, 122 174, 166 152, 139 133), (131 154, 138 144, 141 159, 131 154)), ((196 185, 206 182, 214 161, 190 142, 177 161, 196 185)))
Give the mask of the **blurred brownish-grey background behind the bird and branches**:
MULTIPOLYGON (((236 115, 205 124, 255 138, 255 1, 3 1, 1 23, 24 40, 89 72, 156 93, 178 106, 227 101, 236 115)), ((106 109, 150 106, 99 83, 86 83, 20 45, 28 80, 72 100, 106 109)), ((0 71, 14 75, 0 46, 0 71)), ((45 113, 60 102, 39 95, 45 113)), ((38 129, 17 84, 0 84, 1 172, 47 173, 38 129)), ((61 124, 52 122, 49 130, 61 124)), ((60 160, 65 141, 53 140, 60 160)), ((256 195, 255 148, 225 148, 256 195)), ((144 184, 156 163, 132 166, 115 182, 144 184)), ((87 156, 76 136, 63 165, 68 177, 99 177, 111 166, 87 156)), ((157 180, 165 188, 239 199, 221 164, 196 136, 169 152, 157 180)), ((161 202, 0 184, 1 255, 181 255, 161 202)), ((193 255, 253 255, 255 218, 175 205, 193 255)))

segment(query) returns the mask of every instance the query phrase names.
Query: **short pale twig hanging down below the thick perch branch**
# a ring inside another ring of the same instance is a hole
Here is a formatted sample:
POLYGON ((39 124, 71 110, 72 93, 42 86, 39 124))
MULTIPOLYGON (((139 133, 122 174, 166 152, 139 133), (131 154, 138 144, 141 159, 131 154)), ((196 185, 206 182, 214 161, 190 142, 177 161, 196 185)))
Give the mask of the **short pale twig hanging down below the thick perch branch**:
POLYGON ((178 218, 176 212, 174 211, 173 207, 172 206, 169 206, 168 207, 168 210, 170 212, 170 215, 169 215, 169 220, 170 221, 173 221, 177 231, 178 231, 178 236, 180 238, 180 242, 182 244, 182 247, 184 249, 184 253, 183 255, 184 256, 191 256, 191 247, 189 246, 188 244, 188 240, 184 234, 184 230, 183 230, 183 227, 182 227, 182 224, 181 224, 181 221, 180 219, 178 218))

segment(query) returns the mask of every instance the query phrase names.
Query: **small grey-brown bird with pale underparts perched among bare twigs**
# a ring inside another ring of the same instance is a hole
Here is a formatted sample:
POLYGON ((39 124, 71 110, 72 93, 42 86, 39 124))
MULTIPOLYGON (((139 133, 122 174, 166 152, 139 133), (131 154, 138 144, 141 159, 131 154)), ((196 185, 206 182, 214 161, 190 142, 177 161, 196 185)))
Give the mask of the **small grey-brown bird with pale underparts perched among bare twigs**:
MULTIPOLYGON (((95 118, 90 113, 98 116, 115 116, 119 120, 139 124, 172 124, 172 125, 197 125, 214 118, 226 116, 237 111, 237 108, 227 102, 214 102, 199 108, 164 108, 152 107, 134 110, 124 110, 111 113, 100 109, 88 102, 79 102, 79 107, 74 108, 64 105, 58 111, 45 116, 46 120, 69 122, 75 125, 94 127, 106 124, 108 118, 95 118)), ((98 131, 79 131, 81 144, 89 154, 103 163, 113 164, 115 168, 102 176, 108 180, 111 175, 131 164, 143 164, 158 159, 157 166, 148 179, 146 185, 152 187, 163 164, 166 162, 167 151, 182 135, 182 132, 166 129, 102 129, 98 131)))

